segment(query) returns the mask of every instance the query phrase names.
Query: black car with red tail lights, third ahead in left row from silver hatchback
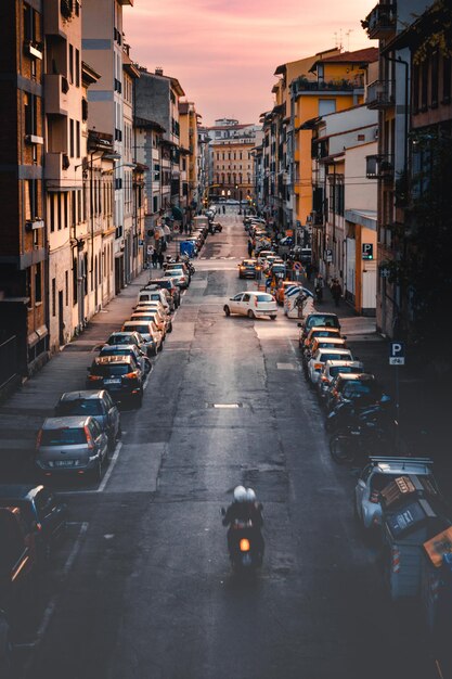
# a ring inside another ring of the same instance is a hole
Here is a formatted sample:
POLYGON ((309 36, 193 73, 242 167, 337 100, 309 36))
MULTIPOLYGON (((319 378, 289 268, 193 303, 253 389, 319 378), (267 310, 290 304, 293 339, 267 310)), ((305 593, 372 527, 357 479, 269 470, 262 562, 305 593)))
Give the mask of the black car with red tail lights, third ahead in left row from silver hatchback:
POLYGON ((107 389, 114 400, 143 400, 144 373, 130 356, 101 356, 88 368, 87 384, 107 389))

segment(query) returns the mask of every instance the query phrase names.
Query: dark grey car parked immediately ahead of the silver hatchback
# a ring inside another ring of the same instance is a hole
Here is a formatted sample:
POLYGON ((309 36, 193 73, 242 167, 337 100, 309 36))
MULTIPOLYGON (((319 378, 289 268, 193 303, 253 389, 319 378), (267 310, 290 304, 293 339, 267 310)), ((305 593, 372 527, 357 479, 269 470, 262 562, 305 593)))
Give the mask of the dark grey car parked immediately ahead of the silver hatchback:
MULTIPOLYGON (((126 345, 127 346, 127 345, 126 345)), ((66 392, 55 407, 55 417, 92 415, 108 436, 108 448, 114 449, 120 437, 120 414, 106 389, 99 392, 66 392)))

